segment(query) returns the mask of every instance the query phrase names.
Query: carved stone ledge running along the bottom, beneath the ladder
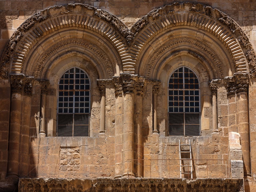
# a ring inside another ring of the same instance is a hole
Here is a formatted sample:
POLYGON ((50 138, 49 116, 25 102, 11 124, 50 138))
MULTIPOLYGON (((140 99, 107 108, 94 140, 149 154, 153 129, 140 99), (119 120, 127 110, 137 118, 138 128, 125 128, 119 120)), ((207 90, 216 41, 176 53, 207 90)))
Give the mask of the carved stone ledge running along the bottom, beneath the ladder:
POLYGON ((181 178, 97 178, 97 179, 64 179, 64 178, 20 178, 19 192, 26 191, 211 191, 243 192, 243 179, 195 179, 181 178), (129 190, 128 190, 129 189, 129 190))

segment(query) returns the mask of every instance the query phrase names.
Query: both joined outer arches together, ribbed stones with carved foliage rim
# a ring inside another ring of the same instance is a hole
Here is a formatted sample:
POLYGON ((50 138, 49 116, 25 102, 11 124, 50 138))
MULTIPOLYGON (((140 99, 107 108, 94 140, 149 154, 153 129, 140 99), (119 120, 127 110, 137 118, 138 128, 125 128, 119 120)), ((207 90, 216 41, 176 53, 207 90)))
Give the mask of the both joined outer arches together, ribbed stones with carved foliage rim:
MULTIPOLYGON (((23 73, 24 66, 26 66, 24 61, 31 54, 30 50, 33 50, 38 42, 42 42, 42 39, 52 33, 61 32, 59 35, 67 39, 86 39, 85 34, 80 31, 90 31, 90 35, 97 36, 98 41, 96 42, 86 40, 99 48, 101 47, 99 44, 104 43, 100 39, 107 41, 107 49, 111 51, 105 53, 108 58, 112 57, 112 60, 119 62, 114 65, 119 65, 120 73, 137 74, 142 55, 146 50, 148 51, 145 46, 159 34, 170 33, 175 27, 179 27, 181 30, 197 29, 197 31, 192 30, 190 34, 190 36, 194 35, 194 39, 198 39, 199 33, 211 35, 213 41, 220 45, 220 49, 229 53, 229 60, 232 60, 230 63, 233 63, 235 69, 232 73, 249 71, 253 77, 255 76, 255 53, 241 27, 232 18, 217 9, 190 2, 173 3, 154 9, 139 19, 131 29, 128 29, 113 14, 90 5, 71 3, 66 6, 50 7, 31 16, 14 32, 2 55, 0 74, 2 78, 7 78, 9 73, 23 73), (70 36, 70 29, 78 30, 76 37, 70 36)), ((203 39, 201 40, 203 41, 203 39)), ((54 41, 54 44, 58 44, 58 42, 54 41)), ((160 41, 159 44, 162 45, 163 42, 160 41)), ((42 47, 42 49, 49 49, 49 46, 42 47)), ((225 66, 226 63, 223 63, 223 59, 221 57, 219 59, 225 66)), ((219 63, 219 61, 216 63, 218 70, 221 69, 219 63)), ((220 76, 222 75, 220 74, 220 76)))

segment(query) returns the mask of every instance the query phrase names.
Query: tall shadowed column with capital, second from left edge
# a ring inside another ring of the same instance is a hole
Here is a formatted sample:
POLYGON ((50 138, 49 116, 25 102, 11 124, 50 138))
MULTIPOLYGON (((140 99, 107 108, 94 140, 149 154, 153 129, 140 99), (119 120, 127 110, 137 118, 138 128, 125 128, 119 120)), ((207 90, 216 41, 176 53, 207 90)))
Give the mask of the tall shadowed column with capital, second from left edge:
POLYGON ((31 97, 33 95, 32 82, 33 78, 26 78, 24 82, 21 128, 21 177, 27 175, 29 167, 29 132, 31 116, 31 97))

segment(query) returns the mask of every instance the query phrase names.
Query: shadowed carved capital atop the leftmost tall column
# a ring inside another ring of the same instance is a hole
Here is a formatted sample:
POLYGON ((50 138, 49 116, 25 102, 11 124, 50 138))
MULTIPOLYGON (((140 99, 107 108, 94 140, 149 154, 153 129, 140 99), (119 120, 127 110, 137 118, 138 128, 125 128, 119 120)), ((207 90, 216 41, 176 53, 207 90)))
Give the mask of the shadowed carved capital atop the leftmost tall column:
POLYGON ((25 75, 23 74, 11 74, 11 92, 23 93, 25 75))

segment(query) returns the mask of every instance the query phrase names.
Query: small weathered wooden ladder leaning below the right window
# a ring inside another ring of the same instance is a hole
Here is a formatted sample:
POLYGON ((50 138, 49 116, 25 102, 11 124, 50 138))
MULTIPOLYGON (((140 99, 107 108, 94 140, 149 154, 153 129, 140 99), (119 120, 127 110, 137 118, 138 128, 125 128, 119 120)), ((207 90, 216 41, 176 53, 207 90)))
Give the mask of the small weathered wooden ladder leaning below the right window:
POLYGON ((191 142, 189 140, 189 144, 187 145, 181 145, 181 140, 179 140, 179 164, 180 164, 180 172, 182 174, 187 174, 191 175, 191 179, 193 179, 193 174, 192 174, 192 154, 191 154, 191 142), (183 146, 189 147, 188 149, 184 150, 182 149, 183 146), (190 154, 190 158, 184 158, 182 154, 190 154), (187 162, 187 164, 186 164, 187 162), (187 167, 187 171, 182 172, 182 170, 185 170, 184 168, 187 167))

